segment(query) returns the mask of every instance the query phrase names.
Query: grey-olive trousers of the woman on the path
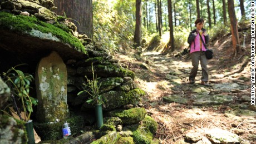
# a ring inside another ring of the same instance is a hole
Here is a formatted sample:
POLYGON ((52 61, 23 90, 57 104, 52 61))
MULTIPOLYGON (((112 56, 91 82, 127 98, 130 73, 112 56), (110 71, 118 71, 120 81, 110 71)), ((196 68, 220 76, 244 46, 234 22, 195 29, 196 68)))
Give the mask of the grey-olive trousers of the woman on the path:
POLYGON ((193 52, 191 53, 191 59, 192 59, 192 66, 189 80, 195 81, 196 74, 198 73, 198 65, 199 61, 202 68, 202 77, 201 81, 207 82, 208 81, 208 72, 207 72, 207 59, 205 56, 205 52, 193 52))

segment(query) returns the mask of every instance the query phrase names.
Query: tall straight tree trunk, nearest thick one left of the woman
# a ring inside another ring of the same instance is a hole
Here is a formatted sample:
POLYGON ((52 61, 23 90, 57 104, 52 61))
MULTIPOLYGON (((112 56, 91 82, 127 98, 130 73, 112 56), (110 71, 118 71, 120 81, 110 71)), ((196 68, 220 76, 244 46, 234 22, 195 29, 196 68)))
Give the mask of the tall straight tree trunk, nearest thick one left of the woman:
MULTIPOLYGON (((169 46, 171 49, 171 52, 174 51, 174 30, 173 30, 173 9, 172 9, 172 4, 171 4, 171 0, 168 0, 168 15, 169 15, 169 27, 170 27, 170 41, 169 41, 169 46)), ((169 51, 167 51, 169 52, 169 51)))

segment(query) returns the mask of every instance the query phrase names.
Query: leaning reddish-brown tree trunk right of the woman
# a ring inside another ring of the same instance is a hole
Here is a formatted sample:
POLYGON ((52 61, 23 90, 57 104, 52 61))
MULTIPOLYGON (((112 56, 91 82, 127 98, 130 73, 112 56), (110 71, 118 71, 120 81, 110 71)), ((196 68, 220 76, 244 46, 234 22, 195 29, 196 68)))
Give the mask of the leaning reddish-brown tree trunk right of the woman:
POLYGON ((237 17, 235 16, 234 0, 228 0, 228 13, 229 13, 230 24, 231 24, 234 56, 237 56, 237 53, 240 53, 241 49, 240 49, 239 34, 238 34, 238 27, 237 27, 237 17))

